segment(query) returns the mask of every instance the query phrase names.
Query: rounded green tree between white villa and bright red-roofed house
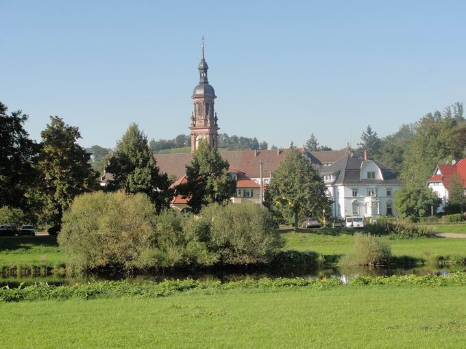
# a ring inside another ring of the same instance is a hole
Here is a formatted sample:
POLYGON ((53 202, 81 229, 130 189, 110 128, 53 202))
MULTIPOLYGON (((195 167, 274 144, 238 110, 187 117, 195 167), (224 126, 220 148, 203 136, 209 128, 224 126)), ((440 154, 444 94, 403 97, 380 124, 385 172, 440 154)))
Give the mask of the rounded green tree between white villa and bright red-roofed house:
POLYGON ((395 209, 401 218, 430 216, 432 209, 436 212, 440 203, 439 196, 424 186, 408 184, 395 192, 395 209))

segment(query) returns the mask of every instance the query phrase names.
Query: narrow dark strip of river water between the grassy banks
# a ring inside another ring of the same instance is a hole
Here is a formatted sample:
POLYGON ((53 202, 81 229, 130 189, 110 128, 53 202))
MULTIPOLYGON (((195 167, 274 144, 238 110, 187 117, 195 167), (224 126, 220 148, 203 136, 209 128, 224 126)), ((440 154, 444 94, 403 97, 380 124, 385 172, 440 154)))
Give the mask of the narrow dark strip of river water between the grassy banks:
POLYGON ((23 284, 34 285, 34 283, 48 283, 49 285, 73 285, 75 283, 88 283, 101 280, 126 280, 134 283, 143 283, 147 281, 160 282, 164 280, 177 280, 177 279, 196 279, 199 281, 241 281, 244 279, 260 279, 269 277, 272 279, 279 277, 302 277, 314 279, 329 279, 338 278, 343 283, 348 283, 349 280, 357 276, 391 276, 391 275, 445 275, 450 272, 466 272, 465 266, 450 266, 445 268, 435 268, 432 266, 416 266, 409 268, 364 268, 364 267, 340 267, 340 268, 327 268, 318 270, 308 270, 301 273, 287 273, 275 274, 273 272, 177 272, 173 274, 157 274, 157 275, 82 275, 82 276, 16 276, 8 278, 0 278, 0 286, 19 287, 23 284))

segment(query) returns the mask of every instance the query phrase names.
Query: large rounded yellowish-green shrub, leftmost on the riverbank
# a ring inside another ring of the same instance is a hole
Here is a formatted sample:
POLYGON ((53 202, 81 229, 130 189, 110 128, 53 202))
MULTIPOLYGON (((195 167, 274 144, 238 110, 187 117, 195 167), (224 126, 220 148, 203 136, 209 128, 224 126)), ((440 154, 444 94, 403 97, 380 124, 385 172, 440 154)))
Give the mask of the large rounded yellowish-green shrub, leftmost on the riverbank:
POLYGON ((78 269, 130 268, 154 239, 155 217, 145 194, 83 194, 64 213, 58 243, 78 269))

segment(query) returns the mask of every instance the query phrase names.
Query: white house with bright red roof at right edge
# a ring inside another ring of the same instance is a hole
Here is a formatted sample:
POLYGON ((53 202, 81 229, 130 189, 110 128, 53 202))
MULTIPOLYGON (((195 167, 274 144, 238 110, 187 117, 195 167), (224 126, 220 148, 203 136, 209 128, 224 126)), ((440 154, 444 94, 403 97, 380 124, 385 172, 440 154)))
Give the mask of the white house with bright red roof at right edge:
POLYGON ((438 212, 445 211, 445 205, 448 201, 448 188, 450 188, 450 181, 456 173, 463 179, 463 185, 466 189, 466 159, 461 159, 458 163, 453 161, 451 165, 437 165, 434 170, 434 174, 432 174, 432 177, 427 180, 427 186, 432 188, 439 198, 442 199, 442 203, 439 209, 437 209, 438 212))

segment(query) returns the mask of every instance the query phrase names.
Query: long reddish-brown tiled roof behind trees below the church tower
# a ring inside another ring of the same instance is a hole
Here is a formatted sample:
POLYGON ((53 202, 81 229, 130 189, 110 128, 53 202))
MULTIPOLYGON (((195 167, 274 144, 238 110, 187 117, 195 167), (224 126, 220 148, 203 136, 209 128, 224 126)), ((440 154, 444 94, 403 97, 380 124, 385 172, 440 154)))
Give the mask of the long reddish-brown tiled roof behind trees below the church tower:
MULTIPOLYGON (((282 163, 286 154, 291 149, 271 149, 267 151, 223 151, 220 153, 223 159, 228 161, 230 166, 243 172, 249 178, 260 177, 260 161, 264 161, 263 176, 270 177, 282 163)), ((304 148, 298 148, 304 153, 304 148)), ((346 151, 314 151, 307 153, 312 164, 332 164, 343 157, 346 151)), ((193 159, 192 153, 182 154, 156 154, 154 155, 157 166, 167 174, 174 174, 176 178, 182 177, 186 173, 186 165, 193 159)))

